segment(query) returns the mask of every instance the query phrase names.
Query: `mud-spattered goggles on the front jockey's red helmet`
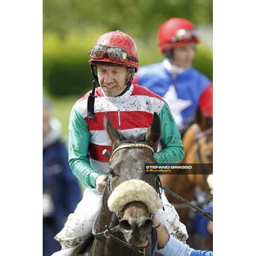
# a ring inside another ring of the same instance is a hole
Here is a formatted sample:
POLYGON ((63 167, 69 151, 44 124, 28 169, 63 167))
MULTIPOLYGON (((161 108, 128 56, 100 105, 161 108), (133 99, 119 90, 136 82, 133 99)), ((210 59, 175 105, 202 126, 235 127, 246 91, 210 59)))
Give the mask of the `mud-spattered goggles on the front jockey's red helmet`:
POLYGON ((118 47, 107 47, 103 45, 96 44, 92 47, 92 49, 89 52, 91 58, 105 58, 106 55, 108 55, 108 58, 110 58, 113 61, 134 61, 138 62, 138 59, 133 56, 129 56, 128 53, 118 47))

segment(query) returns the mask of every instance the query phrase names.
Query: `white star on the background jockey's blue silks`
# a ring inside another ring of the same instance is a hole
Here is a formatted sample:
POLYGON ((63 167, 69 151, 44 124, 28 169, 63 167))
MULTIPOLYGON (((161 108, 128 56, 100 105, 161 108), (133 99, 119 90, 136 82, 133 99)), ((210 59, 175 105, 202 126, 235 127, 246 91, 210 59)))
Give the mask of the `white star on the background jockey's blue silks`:
POLYGON ((192 104, 192 101, 189 99, 179 99, 177 97, 177 93, 174 85, 171 85, 169 87, 169 90, 163 96, 163 99, 168 103, 177 127, 182 128, 183 121, 182 121, 181 111, 189 107, 192 104))

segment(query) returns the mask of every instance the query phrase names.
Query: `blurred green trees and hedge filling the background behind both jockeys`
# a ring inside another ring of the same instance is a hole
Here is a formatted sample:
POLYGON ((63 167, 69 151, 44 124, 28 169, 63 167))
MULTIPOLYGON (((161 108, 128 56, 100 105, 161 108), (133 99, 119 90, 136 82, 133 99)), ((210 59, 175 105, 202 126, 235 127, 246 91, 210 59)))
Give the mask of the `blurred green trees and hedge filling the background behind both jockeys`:
MULTIPOLYGON (((91 88, 88 52, 104 32, 134 38, 140 66, 161 61, 157 29, 170 17, 212 26, 212 0, 43 0, 43 85, 54 96, 91 88)), ((212 48, 198 46, 193 67, 212 79, 212 48)))

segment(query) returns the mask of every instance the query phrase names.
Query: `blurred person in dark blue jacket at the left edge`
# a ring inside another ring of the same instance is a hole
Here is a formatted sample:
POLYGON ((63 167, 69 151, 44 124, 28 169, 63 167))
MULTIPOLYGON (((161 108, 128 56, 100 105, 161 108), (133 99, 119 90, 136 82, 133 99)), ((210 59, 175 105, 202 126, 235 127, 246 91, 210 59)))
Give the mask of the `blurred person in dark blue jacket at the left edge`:
POLYGON ((61 249, 54 236, 81 199, 66 145, 60 139, 60 123, 51 117, 50 105, 48 99, 43 100, 43 256, 61 249))

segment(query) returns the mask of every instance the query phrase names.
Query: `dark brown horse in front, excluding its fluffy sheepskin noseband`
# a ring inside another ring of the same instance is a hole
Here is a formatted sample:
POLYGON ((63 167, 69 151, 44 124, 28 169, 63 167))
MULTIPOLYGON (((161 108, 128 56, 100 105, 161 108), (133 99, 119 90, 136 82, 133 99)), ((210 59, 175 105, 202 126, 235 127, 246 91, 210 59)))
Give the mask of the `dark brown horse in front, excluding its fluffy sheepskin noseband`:
POLYGON ((89 253, 74 255, 141 256, 144 248, 149 248, 151 242, 149 238, 153 220, 148 207, 140 201, 131 201, 120 212, 111 212, 108 209, 108 198, 119 184, 131 179, 143 180, 156 187, 157 177, 144 175, 144 164, 155 163, 151 148, 157 145, 160 137, 160 119, 154 113, 151 127, 141 138, 122 137, 108 119, 106 130, 111 139, 113 152, 102 208, 93 226, 96 238, 89 253))

